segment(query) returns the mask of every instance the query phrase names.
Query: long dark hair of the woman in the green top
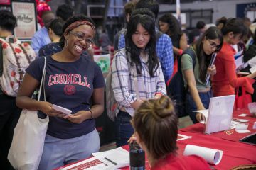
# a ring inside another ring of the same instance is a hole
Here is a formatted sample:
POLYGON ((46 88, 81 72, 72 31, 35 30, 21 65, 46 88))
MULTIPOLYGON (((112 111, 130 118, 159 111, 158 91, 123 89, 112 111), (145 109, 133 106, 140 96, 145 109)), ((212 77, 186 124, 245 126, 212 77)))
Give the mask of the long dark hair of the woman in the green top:
POLYGON ((215 40, 216 38, 220 40, 220 45, 218 46, 218 49, 215 50, 215 52, 218 52, 223 45, 223 35, 215 26, 208 28, 206 32, 204 32, 203 35, 201 35, 201 37, 196 41, 196 44, 193 45, 196 46, 196 56, 198 57, 200 72, 199 78, 202 82, 205 81, 207 68, 210 64, 210 55, 206 55, 206 53, 203 51, 203 40, 215 40))

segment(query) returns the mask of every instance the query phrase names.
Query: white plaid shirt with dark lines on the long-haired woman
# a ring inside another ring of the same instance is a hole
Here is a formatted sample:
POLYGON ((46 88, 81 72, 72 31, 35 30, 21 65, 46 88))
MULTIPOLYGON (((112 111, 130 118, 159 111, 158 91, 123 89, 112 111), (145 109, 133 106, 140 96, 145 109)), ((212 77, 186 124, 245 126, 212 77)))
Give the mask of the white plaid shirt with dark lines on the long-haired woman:
MULTIPOLYGON (((142 74, 137 74, 137 82, 139 89, 140 99, 154 98, 157 93, 166 95, 166 84, 164 81, 164 75, 159 64, 158 69, 154 73, 154 77, 150 77, 147 71, 146 62, 142 60, 142 74)), ((136 101, 134 74, 131 72, 131 67, 128 66, 130 63, 127 61, 125 50, 117 51, 112 61, 112 89, 114 91, 114 98, 117 101, 117 111, 124 107, 129 115, 134 115, 134 108, 131 107, 131 103, 136 101)))

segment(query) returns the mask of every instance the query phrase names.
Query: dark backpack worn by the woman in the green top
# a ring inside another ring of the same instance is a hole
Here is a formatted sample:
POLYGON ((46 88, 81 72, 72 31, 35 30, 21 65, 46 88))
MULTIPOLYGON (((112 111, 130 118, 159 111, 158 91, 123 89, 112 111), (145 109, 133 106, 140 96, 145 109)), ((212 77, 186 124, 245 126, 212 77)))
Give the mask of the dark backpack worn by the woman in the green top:
MULTIPOLYGON (((195 68, 196 65, 196 54, 188 48, 183 52, 181 57, 184 54, 188 54, 192 57, 193 60, 193 69, 195 68)), ((167 88, 167 94, 171 98, 172 101, 174 101, 175 108, 176 108, 176 113, 178 115, 178 118, 181 118, 183 116, 188 115, 185 110, 185 102, 186 102, 186 93, 188 90, 187 88, 184 87, 184 81, 182 77, 182 71, 181 71, 181 57, 178 57, 178 72, 174 74, 174 77, 172 77, 169 86, 167 88)))

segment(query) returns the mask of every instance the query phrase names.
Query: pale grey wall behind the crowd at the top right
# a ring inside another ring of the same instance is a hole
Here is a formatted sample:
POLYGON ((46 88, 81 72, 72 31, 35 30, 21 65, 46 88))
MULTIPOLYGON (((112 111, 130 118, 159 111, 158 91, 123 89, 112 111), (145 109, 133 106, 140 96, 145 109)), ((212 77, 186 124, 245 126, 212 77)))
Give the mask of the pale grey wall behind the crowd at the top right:
MULTIPOLYGON (((195 1, 193 3, 181 4, 181 13, 182 10, 188 9, 213 9, 213 23, 215 23, 215 21, 222 16, 227 18, 236 17, 236 5, 247 4, 251 2, 255 2, 255 0, 213 0, 206 2, 195 1)), ((160 5, 160 11, 176 11, 176 5, 160 5)))

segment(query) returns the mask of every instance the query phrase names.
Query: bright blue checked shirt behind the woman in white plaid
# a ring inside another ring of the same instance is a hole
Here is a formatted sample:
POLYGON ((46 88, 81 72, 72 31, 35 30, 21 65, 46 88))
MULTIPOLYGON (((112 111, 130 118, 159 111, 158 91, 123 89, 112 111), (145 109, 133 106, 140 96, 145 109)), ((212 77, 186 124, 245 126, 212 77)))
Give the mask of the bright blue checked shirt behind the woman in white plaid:
MULTIPOLYGON (((120 35, 118 49, 125 47, 124 34, 120 35)), ((163 69, 164 79, 167 82, 174 71, 174 52, 169 35, 163 34, 156 42, 156 55, 159 57, 163 69)))

